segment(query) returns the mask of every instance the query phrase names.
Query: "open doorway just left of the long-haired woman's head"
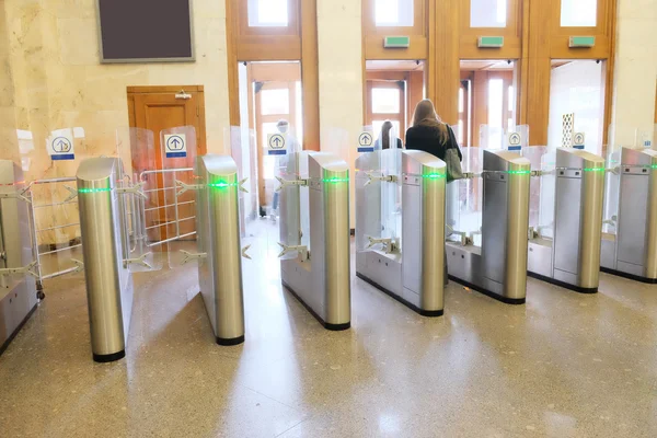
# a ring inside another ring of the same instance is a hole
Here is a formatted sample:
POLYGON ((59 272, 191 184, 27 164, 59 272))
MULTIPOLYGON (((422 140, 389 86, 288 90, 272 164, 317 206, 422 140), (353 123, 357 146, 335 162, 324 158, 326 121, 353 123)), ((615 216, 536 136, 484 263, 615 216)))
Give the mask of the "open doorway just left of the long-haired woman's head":
POLYGON ((425 96, 424 61, 369 60, 366 81, 366 125, 377 136, 390 120, 394 135, 405 142, 415 105, 425 96))

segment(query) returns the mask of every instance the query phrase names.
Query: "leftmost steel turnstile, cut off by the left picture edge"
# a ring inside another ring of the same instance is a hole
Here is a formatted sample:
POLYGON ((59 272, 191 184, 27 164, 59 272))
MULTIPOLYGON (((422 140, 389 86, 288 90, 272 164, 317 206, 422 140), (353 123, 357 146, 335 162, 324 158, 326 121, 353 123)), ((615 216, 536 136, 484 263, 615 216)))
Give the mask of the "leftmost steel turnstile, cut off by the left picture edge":
POLYGON ((35 278, 25 273, 34 258, 27 203, 15 196, 22 188, 21 168, 0 160, 0 269, 8 269, 0 275, 0 354, 37 304, 35 278))

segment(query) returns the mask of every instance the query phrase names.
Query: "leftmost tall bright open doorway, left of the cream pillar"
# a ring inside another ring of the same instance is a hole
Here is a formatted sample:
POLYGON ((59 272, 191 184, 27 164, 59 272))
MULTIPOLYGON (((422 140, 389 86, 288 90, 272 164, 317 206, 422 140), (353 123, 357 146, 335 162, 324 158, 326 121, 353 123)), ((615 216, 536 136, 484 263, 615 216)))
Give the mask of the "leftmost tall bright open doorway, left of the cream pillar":
POLYGON ((256 145, 257 206, 262 217, 275 207, 276 158, 267 154, 267 136, 278 134, 287 122, 289 142, 301 143, 303 111, 299 61, 239 62, 240 119, 256 145))

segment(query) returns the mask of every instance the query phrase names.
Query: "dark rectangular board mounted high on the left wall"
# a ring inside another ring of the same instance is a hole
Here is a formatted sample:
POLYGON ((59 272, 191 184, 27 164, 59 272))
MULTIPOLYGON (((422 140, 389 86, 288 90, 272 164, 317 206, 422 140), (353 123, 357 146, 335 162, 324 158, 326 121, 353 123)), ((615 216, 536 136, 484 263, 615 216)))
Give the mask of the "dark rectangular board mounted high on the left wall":
POLYGON ((102 62, 192 61, 192 0, 97 0, 102 62))

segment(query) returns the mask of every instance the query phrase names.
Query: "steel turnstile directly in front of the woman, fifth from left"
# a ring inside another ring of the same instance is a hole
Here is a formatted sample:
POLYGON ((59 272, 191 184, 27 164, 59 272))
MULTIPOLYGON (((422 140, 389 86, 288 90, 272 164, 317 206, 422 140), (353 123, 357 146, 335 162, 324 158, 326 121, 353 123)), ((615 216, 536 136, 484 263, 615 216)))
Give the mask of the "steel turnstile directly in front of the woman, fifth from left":
POLYGON ((356 169, 356 275, 422 315, 442 315, 445 162, 422 151, 390 149, 362 154, 356 169), (387 160, 387 154, 399 157, 387 160), (401 174, 382 169, 382 162, 401 163, 401 174), (380 169, 379 175, 366 169, 380 169), (390 194, 387 185, 392 185, 393 194, 402 186, 401 205, 382 212, 382 198, 390 194), (382 220, 384 214, 401 214, 401 244, 381 239, 384 222, 390 222, 382 220))

